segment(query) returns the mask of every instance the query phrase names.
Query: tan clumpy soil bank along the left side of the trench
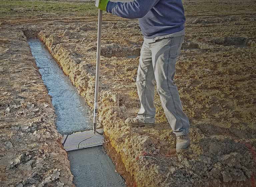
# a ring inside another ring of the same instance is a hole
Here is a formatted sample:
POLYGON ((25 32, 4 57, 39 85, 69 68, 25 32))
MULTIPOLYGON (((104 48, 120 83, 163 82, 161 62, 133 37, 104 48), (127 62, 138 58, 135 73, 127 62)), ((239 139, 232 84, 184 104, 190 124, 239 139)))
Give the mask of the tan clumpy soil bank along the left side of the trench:
POLYGON ((0 186, 74 186, 27 39, 13 28, 0 36, 0 186))

